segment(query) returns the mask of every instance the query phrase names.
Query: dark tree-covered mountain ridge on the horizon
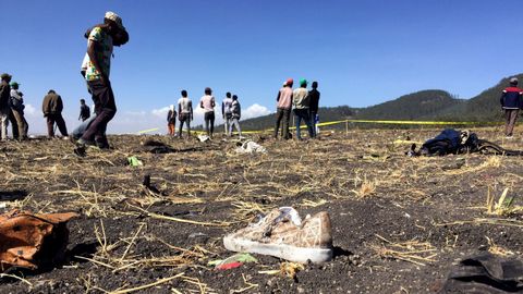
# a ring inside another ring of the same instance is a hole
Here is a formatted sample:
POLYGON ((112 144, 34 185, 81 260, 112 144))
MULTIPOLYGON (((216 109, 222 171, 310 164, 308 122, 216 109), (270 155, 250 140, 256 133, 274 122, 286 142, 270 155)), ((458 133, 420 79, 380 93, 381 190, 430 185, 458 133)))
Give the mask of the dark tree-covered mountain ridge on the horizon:
MULTIPOLYGON (((523 83, 523 74, 512 75, 523 83)), ((510 76, 510 77, 512 77, 510 76)), ((401 96, 366 108, 349 106, 320 108, 318 113, 323 122, 346 119, 360 120, 406 120, 406 121, 501 121, 499 98, 509 86, 509 78, 502 78, 471 99, 457 99, 446 90, 428 89, 401 96)), ((320 100, 321 102, 321 100, 320 100)), ((264 130, 273 127, 275 114, 242 121, 244 130, 264 130)))

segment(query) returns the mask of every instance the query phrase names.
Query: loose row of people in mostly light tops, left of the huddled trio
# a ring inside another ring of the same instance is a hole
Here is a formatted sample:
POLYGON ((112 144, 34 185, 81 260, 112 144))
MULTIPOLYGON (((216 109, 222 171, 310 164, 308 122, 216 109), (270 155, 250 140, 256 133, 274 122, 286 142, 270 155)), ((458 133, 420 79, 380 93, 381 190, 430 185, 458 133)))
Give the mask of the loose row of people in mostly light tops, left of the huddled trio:
MULTIPOLYGON (((215 133, 215 107, 216 99, 212 96, 212 89, 207 87, 204 96, 199 99, 199 108, 204 110, 204 130, 207 136, 212 138, 215 133)), ((239 136, 242 136, 240 127, 240 118, 242 117, 242 108, 236 95, 226 94, 226 98, 221 103, 221 115, 226 127, 226 135, 232 136, 233 127, 236 128, 239 136)), ((191 121, 193 121, 193 102, 187 97, 187 91, 182 90, 182 97, 178 100, 178 120, 180 121, 179 136, 182 137, 183 124, 187 127, 187 136, 191 136, 191 121)), ((175 136, 177 110, 172 105, 167 113, 167 128, 171 136, 175 136)))

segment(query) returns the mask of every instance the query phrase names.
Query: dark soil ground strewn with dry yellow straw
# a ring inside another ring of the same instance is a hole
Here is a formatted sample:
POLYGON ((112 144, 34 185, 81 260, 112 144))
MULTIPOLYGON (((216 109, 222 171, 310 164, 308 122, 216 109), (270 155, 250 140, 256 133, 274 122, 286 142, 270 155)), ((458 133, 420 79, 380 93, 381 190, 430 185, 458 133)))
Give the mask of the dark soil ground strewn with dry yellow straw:
MULTIPOLYGON (((89 150, 85 158, 65 140, 3 143, 0 204, 7 207, 0 210, 81 216, 69 222, 63 264, 12 271, 24 280, 1 278, 0 292, 436 292, 457 260, 482 250, 521 255, 523 244, 522 213, 491 215, 486 207, 489 187, 497 198, 509 188, 521 204, 522 158, 409 158, 406 145, 393 144, 408 133, 424 142, 439 131, 355 130, 308 142, 253 137, 266 155, 236 155, 235 142, 221 138, 112 136, 113 150, 89 150), (169 144, 171 152, 151 154, 141 144, 146 139, 169 144), (127 166, 130 156, 144 166, 127 166), (142 185, 146 174, 153 191, 142 185), (226 233, 280 206, 302 216, 330 213, 331 262, 304 265, 294 277, 264 273, 283 265, 268 256, 231 270, 207 265, 233 255, 223 248, 226 233)), ((506 142, 500 130, 473 131, 523 148, 521 138, 506 142)))

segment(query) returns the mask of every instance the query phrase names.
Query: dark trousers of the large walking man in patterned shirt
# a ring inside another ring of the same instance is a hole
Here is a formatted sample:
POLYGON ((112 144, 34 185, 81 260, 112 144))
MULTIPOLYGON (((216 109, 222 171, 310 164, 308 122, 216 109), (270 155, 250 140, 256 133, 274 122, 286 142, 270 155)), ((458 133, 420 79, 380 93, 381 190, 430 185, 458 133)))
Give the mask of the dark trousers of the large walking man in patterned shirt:
POLYGON ((96 119, 85 131, 82 139, 106 144, 107 124, 117 114, 114 94, 110 84, 102 85, 100 81, 88 81, 87 85, 95 102, 96 119))

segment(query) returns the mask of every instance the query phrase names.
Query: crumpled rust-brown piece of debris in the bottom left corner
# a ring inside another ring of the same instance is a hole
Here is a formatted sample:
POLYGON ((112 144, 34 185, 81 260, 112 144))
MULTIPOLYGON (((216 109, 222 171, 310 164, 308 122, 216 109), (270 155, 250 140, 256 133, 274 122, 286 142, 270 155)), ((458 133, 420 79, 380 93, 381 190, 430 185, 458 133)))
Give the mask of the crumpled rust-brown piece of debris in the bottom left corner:
POLYGON ((0 216, 0 272, 11 267, 56 266, 69 242, 66 222, 77 215, 11 210, 0 216))

